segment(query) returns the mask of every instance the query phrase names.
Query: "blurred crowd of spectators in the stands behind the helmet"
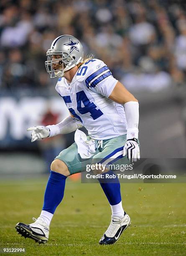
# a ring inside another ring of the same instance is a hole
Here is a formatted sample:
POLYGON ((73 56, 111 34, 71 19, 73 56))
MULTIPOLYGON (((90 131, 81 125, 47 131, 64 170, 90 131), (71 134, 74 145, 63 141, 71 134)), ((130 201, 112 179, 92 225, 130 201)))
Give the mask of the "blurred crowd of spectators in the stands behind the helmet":
POLYGON ((186 80, 184 1, 1 0, 0 89, 54 90, 44 61, 61 34, 76 36, 130 90, 186 80))

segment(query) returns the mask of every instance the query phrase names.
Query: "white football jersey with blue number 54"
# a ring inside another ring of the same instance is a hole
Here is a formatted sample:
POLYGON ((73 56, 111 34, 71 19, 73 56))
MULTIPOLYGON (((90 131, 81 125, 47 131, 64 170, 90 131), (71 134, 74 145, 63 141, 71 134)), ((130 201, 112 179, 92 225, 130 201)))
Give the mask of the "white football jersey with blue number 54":
POLYGON ((89 135, 105 140, 127 133, 123 106, 108 98, 116 83, 103 61, 91 59, 79 67, 70 84, 59 78, 56 91, 89 135))

